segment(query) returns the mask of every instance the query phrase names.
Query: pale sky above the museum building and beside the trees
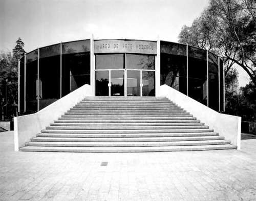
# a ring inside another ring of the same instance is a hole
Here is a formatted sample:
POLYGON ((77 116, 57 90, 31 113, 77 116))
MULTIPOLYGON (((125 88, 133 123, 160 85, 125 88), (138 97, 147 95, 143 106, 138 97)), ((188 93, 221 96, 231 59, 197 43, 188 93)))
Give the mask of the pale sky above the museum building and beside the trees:
MULTIPOLYGON (((160 39, 177 42, 183 25, 208 0, 0 0, 0 50, 12 50, 18 37, 26 52, 89 39, 160 39)), ((248 83, 240 73, 240 86, 248 83)))

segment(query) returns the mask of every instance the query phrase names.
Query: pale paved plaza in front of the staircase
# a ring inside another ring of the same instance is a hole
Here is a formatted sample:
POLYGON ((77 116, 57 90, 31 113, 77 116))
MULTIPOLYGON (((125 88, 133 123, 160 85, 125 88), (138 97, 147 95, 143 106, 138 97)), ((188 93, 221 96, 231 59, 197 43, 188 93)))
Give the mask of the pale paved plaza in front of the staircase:
POLYGON ((15 152, 2 132, 0 200, 256 200, 256 139, 245 139, 241 150, 15 152))

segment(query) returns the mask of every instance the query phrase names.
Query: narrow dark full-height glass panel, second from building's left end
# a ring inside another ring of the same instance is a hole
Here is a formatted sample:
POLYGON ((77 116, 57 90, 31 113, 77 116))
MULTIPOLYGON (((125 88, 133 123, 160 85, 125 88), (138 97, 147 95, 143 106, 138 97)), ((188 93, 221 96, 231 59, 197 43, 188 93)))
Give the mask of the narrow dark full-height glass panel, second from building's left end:
POLYGON ((37 50, 26 55, 26 110, 37 111, 37 50))

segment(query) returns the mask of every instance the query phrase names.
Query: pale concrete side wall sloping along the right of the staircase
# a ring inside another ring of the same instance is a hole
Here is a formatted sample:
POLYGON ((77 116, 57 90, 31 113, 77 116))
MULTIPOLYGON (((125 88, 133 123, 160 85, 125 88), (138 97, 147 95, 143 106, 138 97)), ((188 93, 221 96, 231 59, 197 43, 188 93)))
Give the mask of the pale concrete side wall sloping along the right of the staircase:
POLYGON ((214 129, 225 140, 241 149, 241 117, 217 113, 217 111, 189 98, 167 85, 160 86, 159 96, 165 96, 214 129))

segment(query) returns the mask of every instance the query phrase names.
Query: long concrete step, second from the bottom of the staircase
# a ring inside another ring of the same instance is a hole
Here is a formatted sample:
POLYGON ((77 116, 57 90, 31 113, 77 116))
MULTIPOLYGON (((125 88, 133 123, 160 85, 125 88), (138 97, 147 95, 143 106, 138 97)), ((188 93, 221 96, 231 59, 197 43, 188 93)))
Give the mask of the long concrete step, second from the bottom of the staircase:
POLYGON ((26 146, 57 147, 148 147, 148 146, 195 146, 229 144, 226 140, 173 141, 173 142, 27 142, 26 146))

